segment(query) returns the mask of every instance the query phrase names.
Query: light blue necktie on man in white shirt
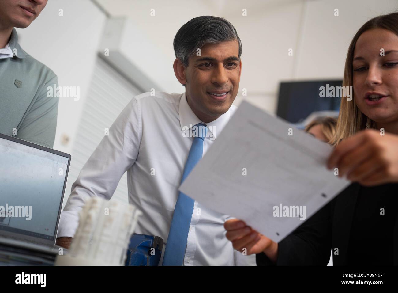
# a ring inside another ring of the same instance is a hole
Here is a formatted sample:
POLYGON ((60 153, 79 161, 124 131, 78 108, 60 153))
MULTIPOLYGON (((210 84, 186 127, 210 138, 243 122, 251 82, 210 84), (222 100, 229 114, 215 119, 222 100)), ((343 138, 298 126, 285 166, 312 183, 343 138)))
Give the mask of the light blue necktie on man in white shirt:
MULTIPOLYGON (((196 124, 195 126, 198 133, 193 139, 191 149, 189 150, 181 183, 185 180, 188 174, 191 173, 193 167, 195 167, 196 163, 203 155, 203 141, 207 133, 207 126, 201 123, 196 124)), ((192 127, 193 134, 195 134, 195 126, 192 127)), ((163 265, 183 264, 194 203, 195 201, 193 199, 182 192, 179 192, 176 207, 174 208, 169 236, 167 238, 163 265)))

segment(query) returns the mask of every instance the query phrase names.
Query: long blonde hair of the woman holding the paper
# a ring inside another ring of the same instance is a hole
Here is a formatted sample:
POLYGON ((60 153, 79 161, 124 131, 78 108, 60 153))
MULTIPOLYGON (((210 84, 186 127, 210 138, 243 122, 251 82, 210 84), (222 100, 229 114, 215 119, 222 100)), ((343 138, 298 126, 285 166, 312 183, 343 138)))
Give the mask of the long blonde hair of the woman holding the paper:
MULTIPOLYGON (((377 16, 367 21, 357 31, 353 37, 351 44, 348 47, 347 58, 345 59, 343 87, 352 87, 353 81, 353 67, 352 61, 354 57, 354 49, 357 40, 362 33, 369 29, 383 28, 392 31, 398 35, 398 12, 377 16)), ((355 95, 351 92, 352 100, 347 100, 347 96, 341 97, 340 112, 337 120, 336 133, 333 138, 332 144, 335 146, 341 142, 341 140, 353 136, 360 130, 366 128, 376 128, 376 123, 367 117, 359 110, 355 103, 355 95)))

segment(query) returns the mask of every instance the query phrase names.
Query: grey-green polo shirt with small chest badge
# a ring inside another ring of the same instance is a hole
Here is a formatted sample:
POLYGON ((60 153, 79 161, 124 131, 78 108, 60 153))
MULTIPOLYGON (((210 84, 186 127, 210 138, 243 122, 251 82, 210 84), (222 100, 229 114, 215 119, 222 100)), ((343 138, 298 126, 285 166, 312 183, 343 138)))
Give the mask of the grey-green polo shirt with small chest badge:
POLYGON ((58 86, 57 75, 27 54, 12 30, 14 56, 0 59, 0 133, 53 147, 58 97, 47 97, 47 87, 58 86))

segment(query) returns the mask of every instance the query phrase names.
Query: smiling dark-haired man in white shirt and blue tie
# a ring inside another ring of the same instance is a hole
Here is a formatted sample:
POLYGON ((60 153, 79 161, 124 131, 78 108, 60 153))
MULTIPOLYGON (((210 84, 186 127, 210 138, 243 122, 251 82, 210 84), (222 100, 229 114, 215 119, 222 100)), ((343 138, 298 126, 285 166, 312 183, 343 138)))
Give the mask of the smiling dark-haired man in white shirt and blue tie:
POLYGON ((176 235, 185 240, 181 263, 173 263, 175 252, 170 252, 168 237, 183 197, 178 187, 195 141, 191 134, 196 125, 207 125, 200 146, 204 154, 234 113, 242 45, 228 21, 201 16, 179 29, 174 51, 174 72, 185 93, 148 92, 131 100, 72 185, 61 214, 57 244, 70 244, 78 226, 78 211, 86 199, 110 199, 127 171, 129 202, 143 213, 135 232, 162 237, 162 258, 169 248, 172 262, 168 264, 255 265, 253 256, 237 252, 226 239, 223 224, 230 216, 192 199, 187 236, 182 231, 176 235))

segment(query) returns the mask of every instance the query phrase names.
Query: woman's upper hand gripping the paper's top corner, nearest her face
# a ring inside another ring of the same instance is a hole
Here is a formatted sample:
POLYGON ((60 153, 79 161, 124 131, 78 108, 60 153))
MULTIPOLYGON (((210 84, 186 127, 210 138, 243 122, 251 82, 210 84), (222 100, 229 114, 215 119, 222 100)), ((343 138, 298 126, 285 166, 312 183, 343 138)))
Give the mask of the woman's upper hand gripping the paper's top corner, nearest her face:
POLYGON ((398 136, 369 129, 343 140, 328 159, 339 176, 365 186, 398 182, 398 136))

